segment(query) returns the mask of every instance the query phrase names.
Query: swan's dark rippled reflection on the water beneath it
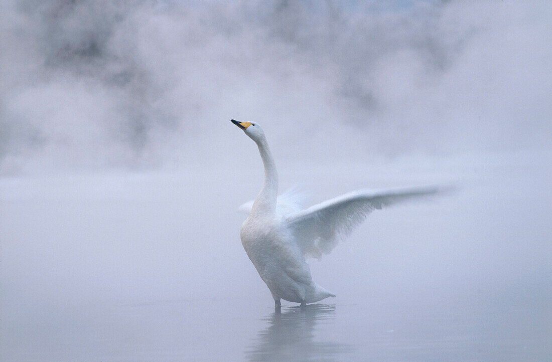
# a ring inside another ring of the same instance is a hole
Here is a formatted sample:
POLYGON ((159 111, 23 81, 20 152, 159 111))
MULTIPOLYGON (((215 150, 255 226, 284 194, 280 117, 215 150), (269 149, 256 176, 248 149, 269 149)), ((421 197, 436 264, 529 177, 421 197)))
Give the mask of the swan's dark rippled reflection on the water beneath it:
POLYGON ((264 318, 267 327, 258 333, 246 356, 256 361, 337 359, 351 352, 351 346, 315 340, 316 325, 331 323, 335 315, 335 305, 293 306, 283 312, 276 308, 264 318))

